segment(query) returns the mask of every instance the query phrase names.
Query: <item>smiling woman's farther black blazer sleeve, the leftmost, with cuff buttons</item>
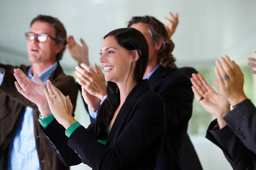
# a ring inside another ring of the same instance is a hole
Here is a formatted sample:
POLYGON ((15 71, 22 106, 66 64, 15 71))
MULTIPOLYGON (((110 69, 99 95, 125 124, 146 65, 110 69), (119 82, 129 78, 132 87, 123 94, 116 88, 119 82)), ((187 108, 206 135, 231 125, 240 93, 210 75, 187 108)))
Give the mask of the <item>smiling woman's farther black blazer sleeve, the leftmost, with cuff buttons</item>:
MULTIPOLYGON (((73 166, 81 163, 79 156, 74 150, 67 146, 68 137, 65 135, 66 129, 59 124, 56 119, 53 119, 45 129, 41 126, 41 129, 52 149, 55 150, 57 156, 66 166, 73 166)), ((94 124, 90 124, 87 127, 87 132, 93 135, 94 124)))

